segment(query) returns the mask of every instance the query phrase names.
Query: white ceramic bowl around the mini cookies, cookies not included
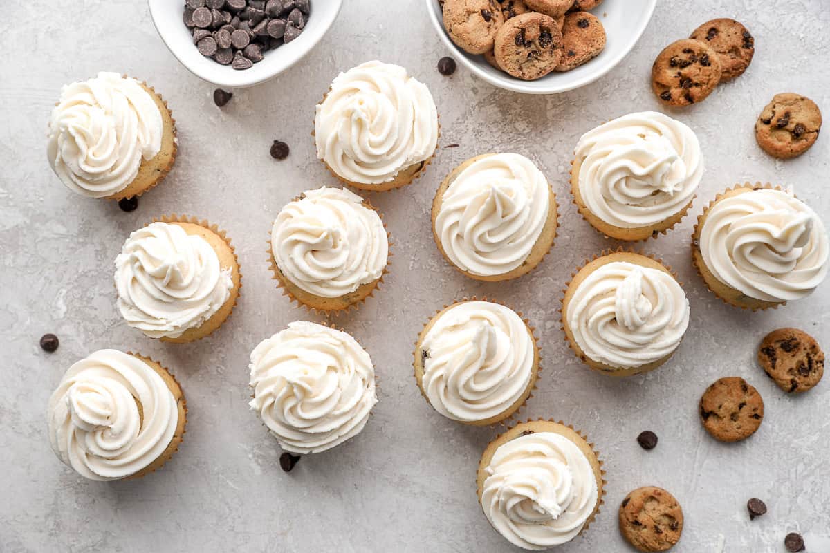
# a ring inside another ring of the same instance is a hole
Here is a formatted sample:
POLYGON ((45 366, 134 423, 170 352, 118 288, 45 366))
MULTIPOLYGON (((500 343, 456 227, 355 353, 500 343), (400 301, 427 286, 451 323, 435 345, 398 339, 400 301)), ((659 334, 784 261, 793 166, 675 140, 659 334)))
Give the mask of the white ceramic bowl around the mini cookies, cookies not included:
POLYGON ((468 54, 456 46, 444 29, 441 7, 437 0, 425 0, 425 2, 427 2, 427 13, 432 20, 432 26, 461 65, 491 85, 525 94, 556 94, 574 90, 608 73, 615 65, 623 61, 623 58, 637 44, 657 4, 657 0, 605 0, 592 10, 592 13, 603 22, 607 37, 605 50, 599 56, 564 73, 554 71, 544 75, 541 79, 521 80, 496 70, 482 56, 468 54))

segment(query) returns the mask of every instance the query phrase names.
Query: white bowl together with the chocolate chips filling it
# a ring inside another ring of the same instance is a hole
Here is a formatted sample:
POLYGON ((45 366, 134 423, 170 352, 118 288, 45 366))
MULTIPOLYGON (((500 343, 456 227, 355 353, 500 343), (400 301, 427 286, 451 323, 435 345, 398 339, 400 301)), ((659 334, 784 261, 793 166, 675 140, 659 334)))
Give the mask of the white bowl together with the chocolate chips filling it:
POLYGON ((257 85, 311 51, 343 0, 148 0, 164 44, 193 75, 257 85))

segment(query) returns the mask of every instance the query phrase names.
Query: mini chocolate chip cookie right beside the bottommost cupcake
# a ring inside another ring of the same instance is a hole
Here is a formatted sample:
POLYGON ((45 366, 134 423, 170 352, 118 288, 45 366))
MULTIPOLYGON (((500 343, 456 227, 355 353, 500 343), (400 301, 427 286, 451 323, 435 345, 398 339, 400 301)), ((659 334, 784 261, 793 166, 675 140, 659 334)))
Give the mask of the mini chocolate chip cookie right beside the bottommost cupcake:
POLYGON ((683 510, 662 488, 637 488, 620 504, 619 526, 623 537, 639 551, 668 551, 680 541, 683 510))

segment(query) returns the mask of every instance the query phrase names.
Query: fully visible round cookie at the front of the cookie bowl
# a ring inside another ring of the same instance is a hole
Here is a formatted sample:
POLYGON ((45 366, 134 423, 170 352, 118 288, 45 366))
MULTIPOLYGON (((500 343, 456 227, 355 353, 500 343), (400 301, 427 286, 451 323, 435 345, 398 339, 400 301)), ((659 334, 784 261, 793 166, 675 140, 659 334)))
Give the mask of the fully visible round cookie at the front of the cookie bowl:
POLYGON ((501 26, 493 53, 500 68, 517 79, 539 79, 559 65, 562 32, 553 17, 523 13, 501 26))

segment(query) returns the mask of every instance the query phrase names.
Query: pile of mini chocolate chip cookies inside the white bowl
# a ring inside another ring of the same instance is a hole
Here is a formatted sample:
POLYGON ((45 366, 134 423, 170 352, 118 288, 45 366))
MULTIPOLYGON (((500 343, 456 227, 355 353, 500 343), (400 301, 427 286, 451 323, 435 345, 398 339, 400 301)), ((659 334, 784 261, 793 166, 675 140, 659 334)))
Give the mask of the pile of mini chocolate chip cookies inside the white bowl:
POLYGON ((453 42, 522 80, 568 71, 605 48, 605 28, 587 10, 602 0, 443 0, 453 42))

